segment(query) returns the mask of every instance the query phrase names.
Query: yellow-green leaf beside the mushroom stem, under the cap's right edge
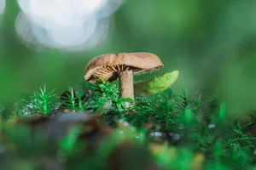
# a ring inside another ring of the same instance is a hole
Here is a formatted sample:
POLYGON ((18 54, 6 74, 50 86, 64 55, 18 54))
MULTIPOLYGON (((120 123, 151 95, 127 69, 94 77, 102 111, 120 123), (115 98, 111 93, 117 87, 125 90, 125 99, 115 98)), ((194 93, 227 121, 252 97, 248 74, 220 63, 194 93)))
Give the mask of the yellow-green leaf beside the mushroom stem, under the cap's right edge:
POLYGON ((172 71, 162 77, 154 77, 148 82, 135 83, 134 88, 144 94, 159 94, 177 81, 178 74, 178 71, 172 71))

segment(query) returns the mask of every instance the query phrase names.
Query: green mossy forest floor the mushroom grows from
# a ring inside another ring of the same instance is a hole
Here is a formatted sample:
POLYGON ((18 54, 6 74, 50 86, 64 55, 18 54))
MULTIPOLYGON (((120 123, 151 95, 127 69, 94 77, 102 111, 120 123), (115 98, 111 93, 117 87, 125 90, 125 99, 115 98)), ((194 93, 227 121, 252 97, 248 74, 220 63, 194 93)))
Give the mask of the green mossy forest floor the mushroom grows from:
POLYGON ((77 87, 59 97, 44 87, 13 111, 1 107, 1 169, 253 169, 254 112, 242 123, 186 90, 131 101, 109 82, 77 87))

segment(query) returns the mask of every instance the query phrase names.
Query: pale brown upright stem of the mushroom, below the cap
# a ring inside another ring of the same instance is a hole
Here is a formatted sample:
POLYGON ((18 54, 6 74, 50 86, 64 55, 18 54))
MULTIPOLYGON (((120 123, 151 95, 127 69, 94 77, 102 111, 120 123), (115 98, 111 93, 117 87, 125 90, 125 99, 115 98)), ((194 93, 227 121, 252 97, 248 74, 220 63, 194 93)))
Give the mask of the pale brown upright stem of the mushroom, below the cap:
POLYGON ((132 71, 119 71, 120 97, 134 99, 132 71))

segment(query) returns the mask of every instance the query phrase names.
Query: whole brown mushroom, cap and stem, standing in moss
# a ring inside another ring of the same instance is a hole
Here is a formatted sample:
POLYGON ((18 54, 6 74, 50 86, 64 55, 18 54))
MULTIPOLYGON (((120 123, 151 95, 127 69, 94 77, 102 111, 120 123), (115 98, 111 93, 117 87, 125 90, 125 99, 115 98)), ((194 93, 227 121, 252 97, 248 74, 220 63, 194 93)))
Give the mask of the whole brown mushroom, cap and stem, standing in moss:
POLYGON ((102 54, 91 59, 85 68, 84 79, 96 83, 97 77, 113 82, 119 79, 120 97, 134 99, 133 75, 156 71, 164 65, 155 54, 102 54))

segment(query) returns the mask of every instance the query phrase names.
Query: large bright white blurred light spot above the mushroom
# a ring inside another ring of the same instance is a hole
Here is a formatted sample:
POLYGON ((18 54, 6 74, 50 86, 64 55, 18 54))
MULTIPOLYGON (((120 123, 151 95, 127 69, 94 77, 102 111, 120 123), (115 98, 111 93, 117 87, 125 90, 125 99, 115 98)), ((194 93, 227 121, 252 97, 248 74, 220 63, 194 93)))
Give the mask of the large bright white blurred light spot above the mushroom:
POLYGON ((123 0, 18 0, 15 29, 26 45, 80 51, 106 40, 123 0))

